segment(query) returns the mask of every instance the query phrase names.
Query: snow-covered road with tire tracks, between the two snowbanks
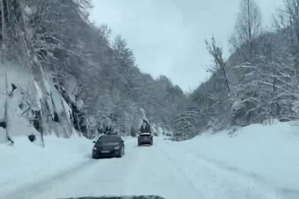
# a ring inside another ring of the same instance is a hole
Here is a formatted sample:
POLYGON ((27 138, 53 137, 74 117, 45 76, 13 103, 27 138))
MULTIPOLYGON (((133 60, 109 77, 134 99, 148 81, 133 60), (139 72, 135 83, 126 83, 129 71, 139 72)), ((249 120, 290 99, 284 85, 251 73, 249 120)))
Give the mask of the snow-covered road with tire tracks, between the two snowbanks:
MULTIPOLYGON (((166 199, 276 199, 279 193, 254 175, 225 168, 178 147, 154 139, 153 146, 126 142, 123 158, 86 160, 17 189, 1 199, 56 199, 84 196, 158 195, 166 199)), ((88 155, 90 157, 90 154, 88 155)), ((53 161, 53 160, 51 160, 53 161)), ((44 171, 47 172, 47 171, 44 171)))

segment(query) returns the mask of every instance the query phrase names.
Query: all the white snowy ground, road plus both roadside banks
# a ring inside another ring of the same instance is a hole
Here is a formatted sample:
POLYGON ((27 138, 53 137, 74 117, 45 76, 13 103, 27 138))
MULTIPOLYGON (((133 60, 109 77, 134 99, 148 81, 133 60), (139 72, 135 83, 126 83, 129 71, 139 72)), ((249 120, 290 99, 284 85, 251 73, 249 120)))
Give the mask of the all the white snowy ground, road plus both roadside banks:
POLYGON ((254 124, 153 146, 125 138, 125 156, 91 159, 86 138, 15 137, 0 144, 1 199, 158 195, 166 199, 298 199, 298 122, 254 124))

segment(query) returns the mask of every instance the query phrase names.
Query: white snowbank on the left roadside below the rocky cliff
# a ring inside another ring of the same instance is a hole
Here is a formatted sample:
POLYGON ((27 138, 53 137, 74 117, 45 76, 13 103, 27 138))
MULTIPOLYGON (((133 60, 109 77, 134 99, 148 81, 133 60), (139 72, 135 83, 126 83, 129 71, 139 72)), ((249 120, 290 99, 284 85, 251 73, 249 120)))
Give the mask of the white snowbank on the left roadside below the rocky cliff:
MULTIPOLYGON (((14 146, 0 144, 0 193, 22 189, 30 183, 51 180, 56 174, 72 170, 90 160, 92 140, 44 137, 45 148, 26 136, 14 137, 14 146)), ((1 198, 1 197, 0 197, 1 198)))

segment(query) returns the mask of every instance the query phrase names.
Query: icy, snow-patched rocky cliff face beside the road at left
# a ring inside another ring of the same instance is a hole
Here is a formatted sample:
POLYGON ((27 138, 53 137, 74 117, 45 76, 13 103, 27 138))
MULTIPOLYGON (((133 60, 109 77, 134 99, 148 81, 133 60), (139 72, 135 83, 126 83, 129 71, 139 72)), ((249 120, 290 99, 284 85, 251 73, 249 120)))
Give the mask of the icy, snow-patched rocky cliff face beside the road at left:
POLYGON ((87 133, 82 100, 68 94, 63 85, 44 74, 47 92, 43 93, 26 68, 8 63, 2 63, 0 74, 0 142, 17 135, 34 134, 42 141, 43 135, 68 138, 87 133))

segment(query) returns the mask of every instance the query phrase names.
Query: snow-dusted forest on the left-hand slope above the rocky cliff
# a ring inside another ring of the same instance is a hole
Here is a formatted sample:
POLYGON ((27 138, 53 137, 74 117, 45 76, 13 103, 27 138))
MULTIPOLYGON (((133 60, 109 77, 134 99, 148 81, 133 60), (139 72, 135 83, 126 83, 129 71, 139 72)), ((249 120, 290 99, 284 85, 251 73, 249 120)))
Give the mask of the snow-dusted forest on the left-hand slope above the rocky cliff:
POLYGON ((41 89, 42 99, 25 105, 42 134, 53 132, 52 122, 61 123, 56 91, 48 84, 72 107, 76 129, 89 137, 105 129, 134 135, 144 117, 165 132, 173 129, 171 115, 184 106, 183 91, 165 76, 154 80, 141 73, 127 42, 88 20, 90 0, 0 0, 0 6, 1 60, 28 69, 41 89))

